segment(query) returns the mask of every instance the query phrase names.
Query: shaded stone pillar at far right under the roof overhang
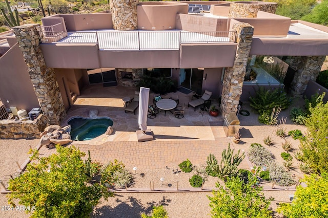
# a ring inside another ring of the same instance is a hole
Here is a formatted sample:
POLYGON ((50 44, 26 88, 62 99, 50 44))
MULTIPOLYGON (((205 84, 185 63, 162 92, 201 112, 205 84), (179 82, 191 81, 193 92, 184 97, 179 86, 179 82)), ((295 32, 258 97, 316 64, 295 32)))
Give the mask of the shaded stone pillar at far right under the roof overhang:
POLYGON ((325 56, 303 56, 301 59, 303 62, 295 69, 296 73, 291 83, 291 92, 294 96, 305 92, 309 80, 317 79, 325 56))

